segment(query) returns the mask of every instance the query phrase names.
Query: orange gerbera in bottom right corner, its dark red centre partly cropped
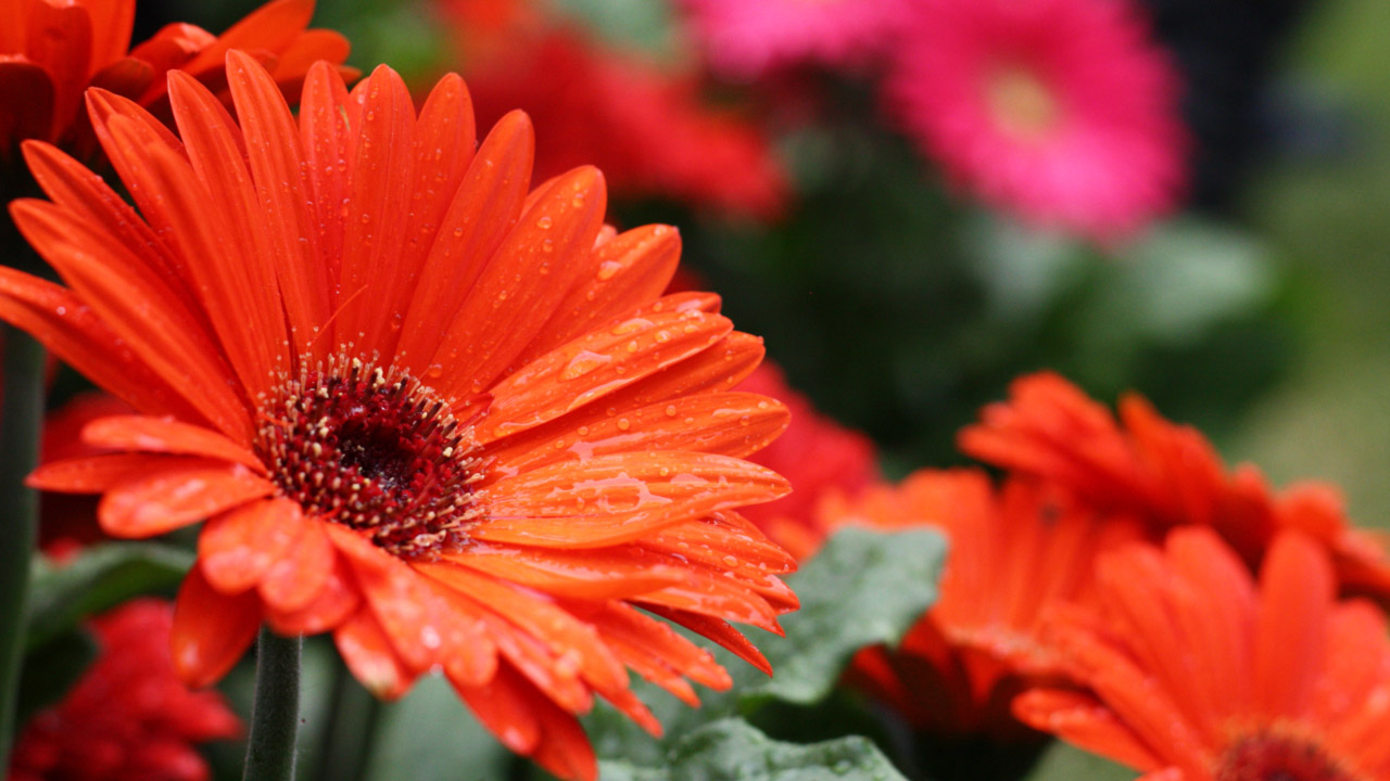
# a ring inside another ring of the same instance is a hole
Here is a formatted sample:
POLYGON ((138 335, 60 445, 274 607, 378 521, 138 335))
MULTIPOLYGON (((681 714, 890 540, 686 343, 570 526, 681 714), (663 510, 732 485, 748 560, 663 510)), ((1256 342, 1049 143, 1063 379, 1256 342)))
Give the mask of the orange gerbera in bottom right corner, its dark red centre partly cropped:
POLYGON ((1093 693, 1040 689, 1029 724, 1151 781, 1390 778, 1384 616, 1336 602, 1326 550, 1280 532, 1258 586, 1209 528, 1102 557, 1099 609, 1058 630, 1093 693))

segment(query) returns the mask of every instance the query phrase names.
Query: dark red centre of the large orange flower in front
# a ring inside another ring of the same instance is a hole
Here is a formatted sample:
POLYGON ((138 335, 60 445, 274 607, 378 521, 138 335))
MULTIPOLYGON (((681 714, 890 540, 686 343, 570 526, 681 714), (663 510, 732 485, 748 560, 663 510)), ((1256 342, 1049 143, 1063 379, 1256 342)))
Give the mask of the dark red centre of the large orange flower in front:
POLYGON ((473 429, 403 371, 329 359, 261 406, 256 449, 281 492, 403 559, 464 545, 481 510, 473 429))

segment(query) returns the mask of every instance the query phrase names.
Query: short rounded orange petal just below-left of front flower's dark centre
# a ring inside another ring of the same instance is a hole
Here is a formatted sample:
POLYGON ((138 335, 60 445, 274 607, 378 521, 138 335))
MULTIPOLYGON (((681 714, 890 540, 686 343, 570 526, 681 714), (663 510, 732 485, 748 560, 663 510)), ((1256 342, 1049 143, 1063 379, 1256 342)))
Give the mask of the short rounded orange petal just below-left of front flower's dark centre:
POLYGON ((240 593, 259 584, 295 542, 297 516, 295 502, 263 499, 207 521, 197 538, 197 566, 208 585, 240 593))

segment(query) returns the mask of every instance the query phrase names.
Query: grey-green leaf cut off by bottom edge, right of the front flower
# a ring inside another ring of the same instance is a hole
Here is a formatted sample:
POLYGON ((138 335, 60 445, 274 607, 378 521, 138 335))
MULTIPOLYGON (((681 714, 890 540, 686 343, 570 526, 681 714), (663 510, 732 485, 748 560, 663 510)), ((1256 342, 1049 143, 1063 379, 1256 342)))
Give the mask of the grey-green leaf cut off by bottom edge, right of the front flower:
POLYGON ((599 766, 603 781, 903 781, 865 738, 801 746, 773 741, 735 718, 681 738, 656 767, 599 766))

